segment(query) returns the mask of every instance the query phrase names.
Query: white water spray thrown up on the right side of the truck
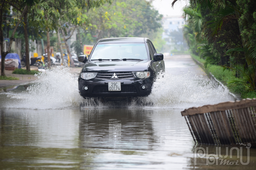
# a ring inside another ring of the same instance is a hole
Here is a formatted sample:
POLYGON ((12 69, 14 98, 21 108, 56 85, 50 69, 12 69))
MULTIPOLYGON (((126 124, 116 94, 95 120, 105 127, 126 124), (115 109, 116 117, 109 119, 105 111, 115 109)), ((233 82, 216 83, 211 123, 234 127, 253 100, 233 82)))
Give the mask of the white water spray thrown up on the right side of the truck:
POLYGON ((144 99, 160 108, 188 108, 232 101, 228 90, 214 88, 212 82, 188 71, 181 75, 165 73, 154 82, 152 93, 144 99))

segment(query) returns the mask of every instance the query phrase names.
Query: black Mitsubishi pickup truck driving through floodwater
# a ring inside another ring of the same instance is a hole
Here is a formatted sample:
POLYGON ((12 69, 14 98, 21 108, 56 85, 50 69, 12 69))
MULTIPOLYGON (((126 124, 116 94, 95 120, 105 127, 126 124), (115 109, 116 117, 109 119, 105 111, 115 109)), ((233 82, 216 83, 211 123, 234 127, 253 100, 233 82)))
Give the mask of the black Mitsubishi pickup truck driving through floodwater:
POLYGON ((163 54, 148 38, 100 39, 85 63, 78 88, 82 97, 141 97, 151 92, 158 74, 165 71, 163 54))

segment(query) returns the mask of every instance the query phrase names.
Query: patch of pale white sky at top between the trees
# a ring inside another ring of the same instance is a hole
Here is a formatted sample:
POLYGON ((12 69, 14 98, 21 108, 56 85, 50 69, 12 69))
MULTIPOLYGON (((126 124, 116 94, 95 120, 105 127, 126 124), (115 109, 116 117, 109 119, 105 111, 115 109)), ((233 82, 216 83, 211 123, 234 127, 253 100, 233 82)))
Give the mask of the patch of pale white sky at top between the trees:
POLYGON ((182 8, 187 4, 185 0, 177 1, 174 7, 171 7, 173 0, 155 0, 153 6, 163 16, 182 16, 182 8))

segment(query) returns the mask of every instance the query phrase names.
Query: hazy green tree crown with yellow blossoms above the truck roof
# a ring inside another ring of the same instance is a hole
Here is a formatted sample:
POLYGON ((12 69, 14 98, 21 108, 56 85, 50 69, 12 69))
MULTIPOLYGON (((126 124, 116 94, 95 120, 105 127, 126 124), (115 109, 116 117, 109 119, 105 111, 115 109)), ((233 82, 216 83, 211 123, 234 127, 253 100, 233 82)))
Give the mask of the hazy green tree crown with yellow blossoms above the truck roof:
POLYGON ((145 37, 145 32, 153 33, 160 27, 162 15, 144 1, 114 0, 111 4, 93 8, 88 11, 90 24, 85 31, 96 37, 145 37))

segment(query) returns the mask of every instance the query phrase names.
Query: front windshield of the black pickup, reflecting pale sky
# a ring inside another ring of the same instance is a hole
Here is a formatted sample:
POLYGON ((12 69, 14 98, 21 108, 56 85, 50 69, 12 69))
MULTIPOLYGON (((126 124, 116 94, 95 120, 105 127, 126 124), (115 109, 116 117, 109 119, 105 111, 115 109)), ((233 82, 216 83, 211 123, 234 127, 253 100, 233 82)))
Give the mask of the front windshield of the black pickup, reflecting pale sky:
POLYGON ((147 59, 145 43, 97 44, 91 55, 91 60, 123 58, 147 59))

